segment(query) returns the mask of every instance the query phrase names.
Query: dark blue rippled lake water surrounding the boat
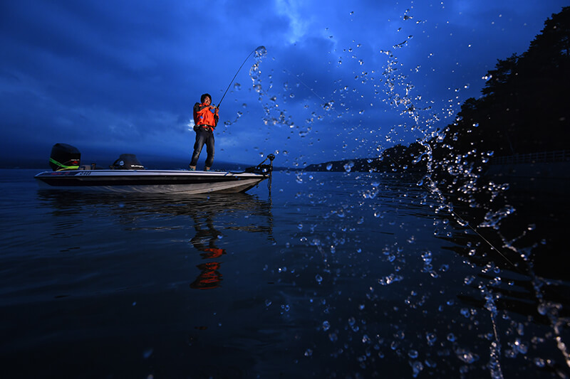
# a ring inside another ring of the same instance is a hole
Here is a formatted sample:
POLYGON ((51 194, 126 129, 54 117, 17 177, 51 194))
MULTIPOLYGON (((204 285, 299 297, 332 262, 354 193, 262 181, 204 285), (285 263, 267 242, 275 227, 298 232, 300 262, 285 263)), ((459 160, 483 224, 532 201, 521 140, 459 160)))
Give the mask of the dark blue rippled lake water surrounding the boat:
POLYGON ((3 378, 569 376, 566 245, 503 257, 412 178, 101 196, 36 172, 0 171, 3 378))

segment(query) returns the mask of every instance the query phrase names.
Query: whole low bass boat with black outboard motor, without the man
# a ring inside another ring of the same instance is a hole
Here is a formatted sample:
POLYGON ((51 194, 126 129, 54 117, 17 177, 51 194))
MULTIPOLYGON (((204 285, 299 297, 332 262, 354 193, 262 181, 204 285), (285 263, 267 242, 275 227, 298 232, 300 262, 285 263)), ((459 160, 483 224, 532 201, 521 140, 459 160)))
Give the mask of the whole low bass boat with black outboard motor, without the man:
POLYGON ((50 157, 52 171, 34 178, 40 188, 115 193, 238 193, 248 191, 271 178, 273 159, 261 162, 243 172, 147 170, 134 154, 121 154, 109 169, 95 164, 81 166, 81 154, 68 144, 53 146, 50 157))

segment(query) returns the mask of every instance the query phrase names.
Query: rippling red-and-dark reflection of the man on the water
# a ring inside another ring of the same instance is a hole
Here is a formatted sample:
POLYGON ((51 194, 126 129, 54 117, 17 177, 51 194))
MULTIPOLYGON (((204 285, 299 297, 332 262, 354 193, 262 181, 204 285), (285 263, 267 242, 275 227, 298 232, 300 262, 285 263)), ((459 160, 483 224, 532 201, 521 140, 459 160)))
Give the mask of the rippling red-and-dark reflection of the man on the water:
MULTIPOLYGON (((206 218, 206 227, 202 229, 202 224, 200 220, 195 218, 194 228, 196 230, 196 235, 190 240, 194 247, 201 251, 200 256, 204 260, 219 258, 226 253, 225 249, 219 249, 215 242, 219 233, 212 223, 212 218, 206 218)), ((200 270, 200 274, 192 284, 190 288, 194 289, 213 289, 219 287, 219 282, 222 281, 222 274, 218 271, 221 262, 205 262, 197 265, 200 270)))

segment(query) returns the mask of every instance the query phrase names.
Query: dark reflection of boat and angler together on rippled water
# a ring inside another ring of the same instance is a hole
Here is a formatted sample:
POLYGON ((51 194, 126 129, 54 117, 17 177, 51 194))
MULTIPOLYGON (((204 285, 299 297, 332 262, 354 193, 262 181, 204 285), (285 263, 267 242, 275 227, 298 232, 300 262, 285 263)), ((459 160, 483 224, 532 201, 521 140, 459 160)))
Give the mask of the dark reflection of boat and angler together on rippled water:
POLYGON ((145 233, 167 228, 189 230, 188 220, 192 220, 192 231, 188 234, 193 235, 188 242, 204 260, 196 265, 199 274, 190 283, 192 289, 220 287, 221 258, 227 254, 226 248, 219 246, 224 233, 263 233, 268 240, 274 241, 271 197, 261 200, 247 193, 209 196, 131 193, 78 197, 76 193, 38 191, 38 200, 48 203, 46 208, 51 208, 53 215, 67 224, 77 222, 81 225, 88 220, 89 214, 103 213, 108 223, 90 226, 108 230, 109 223, 119 223, 124 231, 135 232, 127 238, 136 238, 136 233, 141 230, 145 233))

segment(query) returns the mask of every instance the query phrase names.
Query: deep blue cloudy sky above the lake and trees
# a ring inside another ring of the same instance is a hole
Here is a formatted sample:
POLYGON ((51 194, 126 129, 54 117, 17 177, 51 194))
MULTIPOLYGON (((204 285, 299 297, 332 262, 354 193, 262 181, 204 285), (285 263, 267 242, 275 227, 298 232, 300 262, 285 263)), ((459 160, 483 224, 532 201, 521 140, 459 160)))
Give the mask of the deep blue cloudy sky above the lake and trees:
POLYGON ((87 159, 107 151, 185 166, 192 105, 204 92, 217 104, 258 46, 266 55, 247 60, 220 107, 217 160, 378 156, 452 122, 497 59, 527 50, 565 5, 2 1, 2 158, 47 158, 64 142, 87 159))

